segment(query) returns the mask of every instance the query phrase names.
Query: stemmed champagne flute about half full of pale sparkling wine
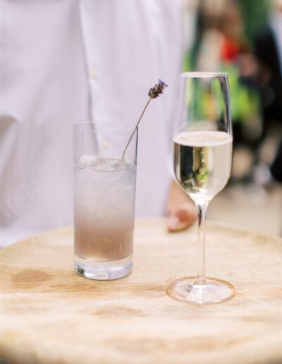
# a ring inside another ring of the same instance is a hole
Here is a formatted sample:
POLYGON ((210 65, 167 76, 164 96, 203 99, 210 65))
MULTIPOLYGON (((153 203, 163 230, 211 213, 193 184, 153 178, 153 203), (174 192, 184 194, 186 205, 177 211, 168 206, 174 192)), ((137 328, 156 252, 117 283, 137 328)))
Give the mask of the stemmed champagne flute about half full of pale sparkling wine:
POLYGON ((226 73, 180 75, 173 142, 176 180, 197 207, 197 277, 171 282, 167 293, 199 305, 227 301, 234 296, 234 287, 204 274, 207 207, 231 174, 233 138, 226 73))

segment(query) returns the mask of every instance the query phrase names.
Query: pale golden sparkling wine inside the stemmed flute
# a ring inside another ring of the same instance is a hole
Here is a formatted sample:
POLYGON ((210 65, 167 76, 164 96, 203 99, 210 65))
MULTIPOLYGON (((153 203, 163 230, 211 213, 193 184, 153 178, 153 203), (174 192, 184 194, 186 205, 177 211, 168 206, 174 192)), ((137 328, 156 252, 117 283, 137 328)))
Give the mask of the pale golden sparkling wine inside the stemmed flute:
POLYGON ((174 172, 192 200, 211 200, 226 186, 232 141, 222 131, 188 131, 173 138, 174 172))

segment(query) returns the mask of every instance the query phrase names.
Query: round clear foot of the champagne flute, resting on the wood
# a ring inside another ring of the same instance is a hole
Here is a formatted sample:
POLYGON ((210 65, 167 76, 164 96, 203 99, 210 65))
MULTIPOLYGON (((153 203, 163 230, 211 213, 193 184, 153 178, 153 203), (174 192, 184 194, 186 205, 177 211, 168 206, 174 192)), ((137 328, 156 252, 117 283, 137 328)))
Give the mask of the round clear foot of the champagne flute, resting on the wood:
POLYGON ((171 298, 195 305, 207 305, 230 300, 235 295, 232 284, 222 279, 207 277, 204 284, 196 283, 197 277, 176 279, 168 285, 166 293, 171 298))

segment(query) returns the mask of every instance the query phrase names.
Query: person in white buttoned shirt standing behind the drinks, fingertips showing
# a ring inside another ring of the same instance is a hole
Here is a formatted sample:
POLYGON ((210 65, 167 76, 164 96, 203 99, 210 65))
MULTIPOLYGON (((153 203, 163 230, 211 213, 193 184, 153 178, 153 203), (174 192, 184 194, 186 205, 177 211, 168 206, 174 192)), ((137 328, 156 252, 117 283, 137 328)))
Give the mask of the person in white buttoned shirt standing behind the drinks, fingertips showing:
POLYGON ((158 78, 169 87, 140 123, 136 216, 168 213, 171 231, 195 221, 195 207, 168 167, 182 6, 180 0, 2 1, 2 245, 72 224, 73 123, 134 123, 158 78))

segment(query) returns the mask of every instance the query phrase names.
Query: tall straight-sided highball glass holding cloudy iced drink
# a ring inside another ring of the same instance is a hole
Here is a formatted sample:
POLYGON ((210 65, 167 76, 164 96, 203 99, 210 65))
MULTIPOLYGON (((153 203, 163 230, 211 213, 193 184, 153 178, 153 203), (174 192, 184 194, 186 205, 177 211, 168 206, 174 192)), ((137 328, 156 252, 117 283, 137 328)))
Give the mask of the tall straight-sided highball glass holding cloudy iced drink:
POLYGON ((137 155, 134 131, 135 126, 126 123, 74 126, 75 271, 83 277, 118 279, 131 272, 137 155))

